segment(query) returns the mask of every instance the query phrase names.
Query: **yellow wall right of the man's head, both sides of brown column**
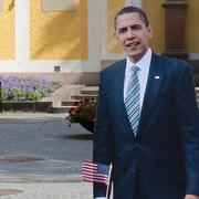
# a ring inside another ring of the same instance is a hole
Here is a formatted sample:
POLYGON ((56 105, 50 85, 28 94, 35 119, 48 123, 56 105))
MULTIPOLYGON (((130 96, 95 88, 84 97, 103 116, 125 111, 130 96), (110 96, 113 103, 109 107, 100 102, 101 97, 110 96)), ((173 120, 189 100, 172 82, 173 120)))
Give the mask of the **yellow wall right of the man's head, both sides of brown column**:
MULTIPOLYGON (((159 0, 143 0, 143 8, 147 12, 150 23, 155 28, 155 35, 150 46, 155 52, 165 50, 165 9, 159 0)), ((199 0, 189 0, 186 15, 186 48, 189 53, 199 53, 199 0)), ((172 36, 172 35, 170 35, 172 36)))

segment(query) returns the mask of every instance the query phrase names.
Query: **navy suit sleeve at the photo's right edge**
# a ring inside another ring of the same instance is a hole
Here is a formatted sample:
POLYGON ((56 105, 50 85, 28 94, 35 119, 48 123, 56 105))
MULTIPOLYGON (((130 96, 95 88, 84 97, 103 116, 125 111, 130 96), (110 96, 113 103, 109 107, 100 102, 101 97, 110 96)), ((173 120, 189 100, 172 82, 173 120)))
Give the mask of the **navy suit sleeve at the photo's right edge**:
POLYGON ((199 111, 190 66, 185 66, 177 83, 177 113, 186 168, 186 193, 199 195, 199 111))

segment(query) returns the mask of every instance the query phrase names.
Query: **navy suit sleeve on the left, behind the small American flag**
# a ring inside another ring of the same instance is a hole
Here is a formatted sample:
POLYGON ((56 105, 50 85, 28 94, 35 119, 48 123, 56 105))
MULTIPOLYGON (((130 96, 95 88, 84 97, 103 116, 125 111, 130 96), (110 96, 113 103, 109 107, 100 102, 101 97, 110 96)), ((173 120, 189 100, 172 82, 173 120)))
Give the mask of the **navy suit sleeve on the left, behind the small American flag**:
MULTIPOLYGON (((103 165, 112 163, 112 138, 111 138, 111 119, 108 114, 108 102, 105 91, 105 81, 101 72, 100 91, 97 102, 97 114, 94 130, 93 161, 103 165)), ((94 184, 94 198, 105 197, 107 187, 94 184)))

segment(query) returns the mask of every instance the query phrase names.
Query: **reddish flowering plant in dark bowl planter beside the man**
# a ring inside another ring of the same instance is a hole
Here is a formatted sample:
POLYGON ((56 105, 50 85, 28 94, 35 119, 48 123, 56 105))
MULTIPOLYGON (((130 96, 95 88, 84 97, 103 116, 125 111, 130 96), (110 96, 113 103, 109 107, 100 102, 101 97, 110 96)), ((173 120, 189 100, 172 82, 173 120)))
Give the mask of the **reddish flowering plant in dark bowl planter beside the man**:
POLYGON ((94 98, 82 98, 69 111, 70 126, 72 123, 80 123, 84 128, 94 132, 96 116, 96 101, 94 98))

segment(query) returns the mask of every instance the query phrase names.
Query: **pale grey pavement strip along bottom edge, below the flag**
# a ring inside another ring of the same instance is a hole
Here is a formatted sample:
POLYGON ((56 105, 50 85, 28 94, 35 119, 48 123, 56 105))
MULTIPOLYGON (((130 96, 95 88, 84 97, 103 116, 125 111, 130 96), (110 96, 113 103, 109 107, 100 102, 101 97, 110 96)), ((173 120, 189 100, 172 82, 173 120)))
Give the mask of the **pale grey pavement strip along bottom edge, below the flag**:
POLYGON ((0 199, 92 199, 91 185, 76 184, 0 184, 1 189, 18 189, 17 195, 0 196, 0 199))

